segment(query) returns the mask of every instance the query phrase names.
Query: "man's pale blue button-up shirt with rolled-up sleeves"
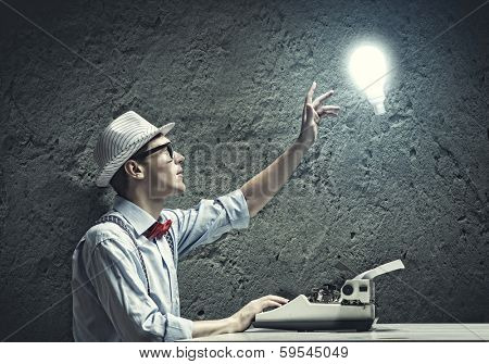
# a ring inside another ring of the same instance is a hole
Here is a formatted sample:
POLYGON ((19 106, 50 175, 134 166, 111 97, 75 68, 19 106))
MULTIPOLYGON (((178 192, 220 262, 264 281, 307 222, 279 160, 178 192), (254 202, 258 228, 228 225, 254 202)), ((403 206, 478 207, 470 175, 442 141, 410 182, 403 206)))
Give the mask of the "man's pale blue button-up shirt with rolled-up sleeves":
POLYGON ((241 190, 216 200, 201 200, 190 210, 161 212, 172 219, 170 234, 148 240, 142 234, 155 223, 146 211, 117 196, 108 214, 131 229, 143 256, 147 280, 134 241, 118 225, 91 227, 73 254, 73 337, 75 341, 175 341, 191 338, 192 322, 180 317, 178 258, 215 241, 231 228, 248 227, 250 215, 241 190))

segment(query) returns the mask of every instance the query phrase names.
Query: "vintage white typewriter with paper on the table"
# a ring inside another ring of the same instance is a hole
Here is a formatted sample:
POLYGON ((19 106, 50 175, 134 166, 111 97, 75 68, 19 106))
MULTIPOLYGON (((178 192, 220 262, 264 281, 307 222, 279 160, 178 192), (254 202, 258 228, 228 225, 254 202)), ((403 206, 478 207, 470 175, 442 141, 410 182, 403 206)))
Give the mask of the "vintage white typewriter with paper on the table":
POLYGON ((315 288, 287 304, 259 313, 253 326, 289 330, 358 330, 372 328, 375 316, 373 279, 381 274, 403 269, 400 260, 386 263, 347 280, 339 289, 334 285, 315 288))

